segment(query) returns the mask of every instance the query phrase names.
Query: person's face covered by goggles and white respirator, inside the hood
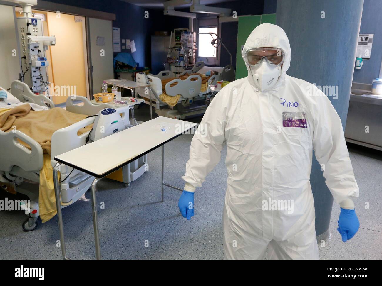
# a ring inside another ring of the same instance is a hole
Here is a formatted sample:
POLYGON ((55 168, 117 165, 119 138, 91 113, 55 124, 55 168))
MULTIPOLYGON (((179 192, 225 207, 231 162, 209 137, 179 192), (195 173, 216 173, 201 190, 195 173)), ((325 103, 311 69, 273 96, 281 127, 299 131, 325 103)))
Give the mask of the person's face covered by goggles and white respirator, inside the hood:
POLYGON ((285 53, 280 48, 254 48, 245 54, 254 85, 264 91, 274 87, 281 75, 285 53))

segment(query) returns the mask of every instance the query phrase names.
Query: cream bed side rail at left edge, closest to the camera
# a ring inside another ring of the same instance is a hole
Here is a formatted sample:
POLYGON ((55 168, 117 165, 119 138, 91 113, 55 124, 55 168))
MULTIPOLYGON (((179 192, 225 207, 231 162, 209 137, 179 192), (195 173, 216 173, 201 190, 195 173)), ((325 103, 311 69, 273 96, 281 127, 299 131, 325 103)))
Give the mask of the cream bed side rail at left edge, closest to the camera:
POLYGON ((0 130, 0 170, 10 172, 18 166, 26 172, 39 172, 43 165, 44 155, 39 143, 25 133, 15 130, 0 130), (18 139, 27 143, 31 150, 23 146, 18 139))

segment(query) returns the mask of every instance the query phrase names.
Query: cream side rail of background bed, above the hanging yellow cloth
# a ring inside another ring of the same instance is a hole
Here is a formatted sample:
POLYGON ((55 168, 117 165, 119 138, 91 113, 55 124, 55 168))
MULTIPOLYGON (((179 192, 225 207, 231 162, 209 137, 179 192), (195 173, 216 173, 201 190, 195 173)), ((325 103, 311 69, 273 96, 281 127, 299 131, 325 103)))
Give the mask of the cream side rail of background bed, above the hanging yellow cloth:
POLYGON ((202 85, 202 78, 198 75, 189 76, 185 80, 174 79, 166 84, 166 93, 171 96, 176 96, 178 94, 182 95, 184 98, 193 98, 199 95, 200 88, 202 85), (193 80, 194 79, 194 80, 193 80), (172 84, 175 84, 171 87, 172 84))

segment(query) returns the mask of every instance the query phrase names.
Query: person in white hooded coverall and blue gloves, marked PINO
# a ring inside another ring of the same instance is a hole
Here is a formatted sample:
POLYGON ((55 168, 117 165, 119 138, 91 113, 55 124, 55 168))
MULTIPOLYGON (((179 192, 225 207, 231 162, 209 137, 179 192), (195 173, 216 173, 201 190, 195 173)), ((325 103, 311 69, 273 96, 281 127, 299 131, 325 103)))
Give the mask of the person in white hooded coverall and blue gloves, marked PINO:
POLYGON ((342 240, 351 239, 359 227, 351 199, 358 197, 358 185, 341 120, 324 93, 286 74, 291 50, 280 27, 257 26, 242 57, 248 77, 222 88, 198 127, 204 132, 197 131, 191 142, 181 214, 194 215, 195 188, 227 145, 225 258, 262 259, 268 248, 268 259, 318 259, 309 182, 312 150, 340 204, 342 240))

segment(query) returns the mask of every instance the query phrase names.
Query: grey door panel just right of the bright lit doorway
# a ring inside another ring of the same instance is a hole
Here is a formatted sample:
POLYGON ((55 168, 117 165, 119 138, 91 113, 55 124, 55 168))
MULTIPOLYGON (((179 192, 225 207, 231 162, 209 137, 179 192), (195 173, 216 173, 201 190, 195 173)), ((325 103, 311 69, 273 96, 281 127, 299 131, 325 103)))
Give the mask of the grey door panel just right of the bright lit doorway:
POLYGON ((105 79, 113 79, 112 21, 86 18, 90 95, 101 92, 105 79))

